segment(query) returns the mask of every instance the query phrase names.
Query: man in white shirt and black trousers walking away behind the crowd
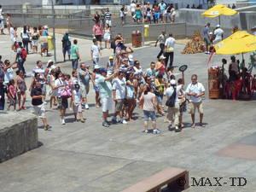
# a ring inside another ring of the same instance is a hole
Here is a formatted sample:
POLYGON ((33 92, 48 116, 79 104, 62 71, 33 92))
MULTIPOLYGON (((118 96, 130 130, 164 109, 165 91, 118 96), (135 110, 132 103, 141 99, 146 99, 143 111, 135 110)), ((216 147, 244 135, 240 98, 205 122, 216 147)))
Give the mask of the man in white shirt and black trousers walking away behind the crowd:
POLYGON ((173 38, 172 33, 170 33, 169 38, 166 39, 166 44, 165 44, 166 67, 168 65, 169 57, 170 57, 169 67, 172 67, 173 57, 174 57, 174 45, 175 45, 175 38, 173 38))

